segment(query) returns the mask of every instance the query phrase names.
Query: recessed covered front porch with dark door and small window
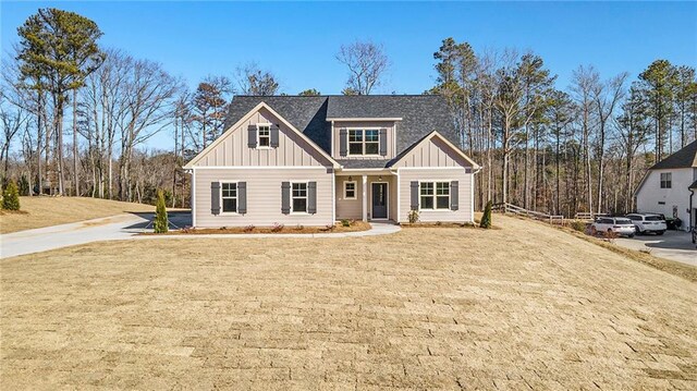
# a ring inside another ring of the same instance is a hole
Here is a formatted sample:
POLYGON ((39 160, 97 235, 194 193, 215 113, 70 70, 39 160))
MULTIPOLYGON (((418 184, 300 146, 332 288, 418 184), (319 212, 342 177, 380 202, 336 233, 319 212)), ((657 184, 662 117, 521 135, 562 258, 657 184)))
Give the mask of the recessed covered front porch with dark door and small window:
POLYGON ((355 169, 341 170, 335 175, 337 220, 399 220, 396 171, 355 169))

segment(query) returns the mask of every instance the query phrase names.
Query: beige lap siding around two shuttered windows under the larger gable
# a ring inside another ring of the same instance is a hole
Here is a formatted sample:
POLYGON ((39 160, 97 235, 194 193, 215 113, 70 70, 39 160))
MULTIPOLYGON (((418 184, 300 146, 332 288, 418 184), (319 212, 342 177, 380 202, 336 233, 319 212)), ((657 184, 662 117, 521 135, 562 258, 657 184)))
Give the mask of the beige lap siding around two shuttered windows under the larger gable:
POLYGON ((332 178, 325 168, 318 169, 203 169, 197 168, 196 175, 196 227, 245 227, 272 225, 274 222, 285 225, 326 225, 333 223, 332 178), (210 183, 233 181, 247 183, 247 213, 244 216, 219 215, 210 212, 210 183), (317 182, 317 213, 281 213, 282 182, 317 182))

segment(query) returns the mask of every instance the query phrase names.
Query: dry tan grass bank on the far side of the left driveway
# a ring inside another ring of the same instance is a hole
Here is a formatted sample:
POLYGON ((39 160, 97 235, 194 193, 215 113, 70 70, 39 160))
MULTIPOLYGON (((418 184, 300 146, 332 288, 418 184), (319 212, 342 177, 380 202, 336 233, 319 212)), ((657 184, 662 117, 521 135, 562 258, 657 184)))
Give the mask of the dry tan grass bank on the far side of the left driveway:
POLYGON ((0 213, 0 233, 51 227, 125 212, 154 212, 145 204, 89 197, 20 197, 21 213, 0 213))

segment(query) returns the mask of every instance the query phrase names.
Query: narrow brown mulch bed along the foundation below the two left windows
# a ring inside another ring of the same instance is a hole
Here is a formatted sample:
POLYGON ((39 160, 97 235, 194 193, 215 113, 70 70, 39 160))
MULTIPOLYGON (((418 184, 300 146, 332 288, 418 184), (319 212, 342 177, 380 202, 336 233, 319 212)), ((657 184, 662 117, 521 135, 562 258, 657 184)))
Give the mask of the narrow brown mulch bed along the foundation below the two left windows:
POLYGON ((351 223, 350 227, 344 227, 341 223, 337 223, 332 227, 305 227, 305 225, 283 225, 283 227, 222 227, 222 228, 197 228, 197 229, 182 229, 171 230, 167 233, 151 233, 146 232, 142 235, 210 235, 210 234, 255 234, 255 233, 272 233, 272 234, 289 234, 289 233, 341 233, 341 232, 360 232, 370 229, 370 224, 365 221, 356 221, 351 223))

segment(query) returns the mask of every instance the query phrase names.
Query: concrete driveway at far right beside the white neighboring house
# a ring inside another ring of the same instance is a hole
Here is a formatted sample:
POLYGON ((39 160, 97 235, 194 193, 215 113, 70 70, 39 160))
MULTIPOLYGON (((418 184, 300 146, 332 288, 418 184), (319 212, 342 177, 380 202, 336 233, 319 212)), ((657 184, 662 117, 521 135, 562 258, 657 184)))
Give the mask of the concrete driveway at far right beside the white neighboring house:
POLYGON ((631 249, 649 251, 657 257, 697 266, 697 248, 687 232, 667 231, 661 236, 648 234, 621 237, 615 243, 631 249))

